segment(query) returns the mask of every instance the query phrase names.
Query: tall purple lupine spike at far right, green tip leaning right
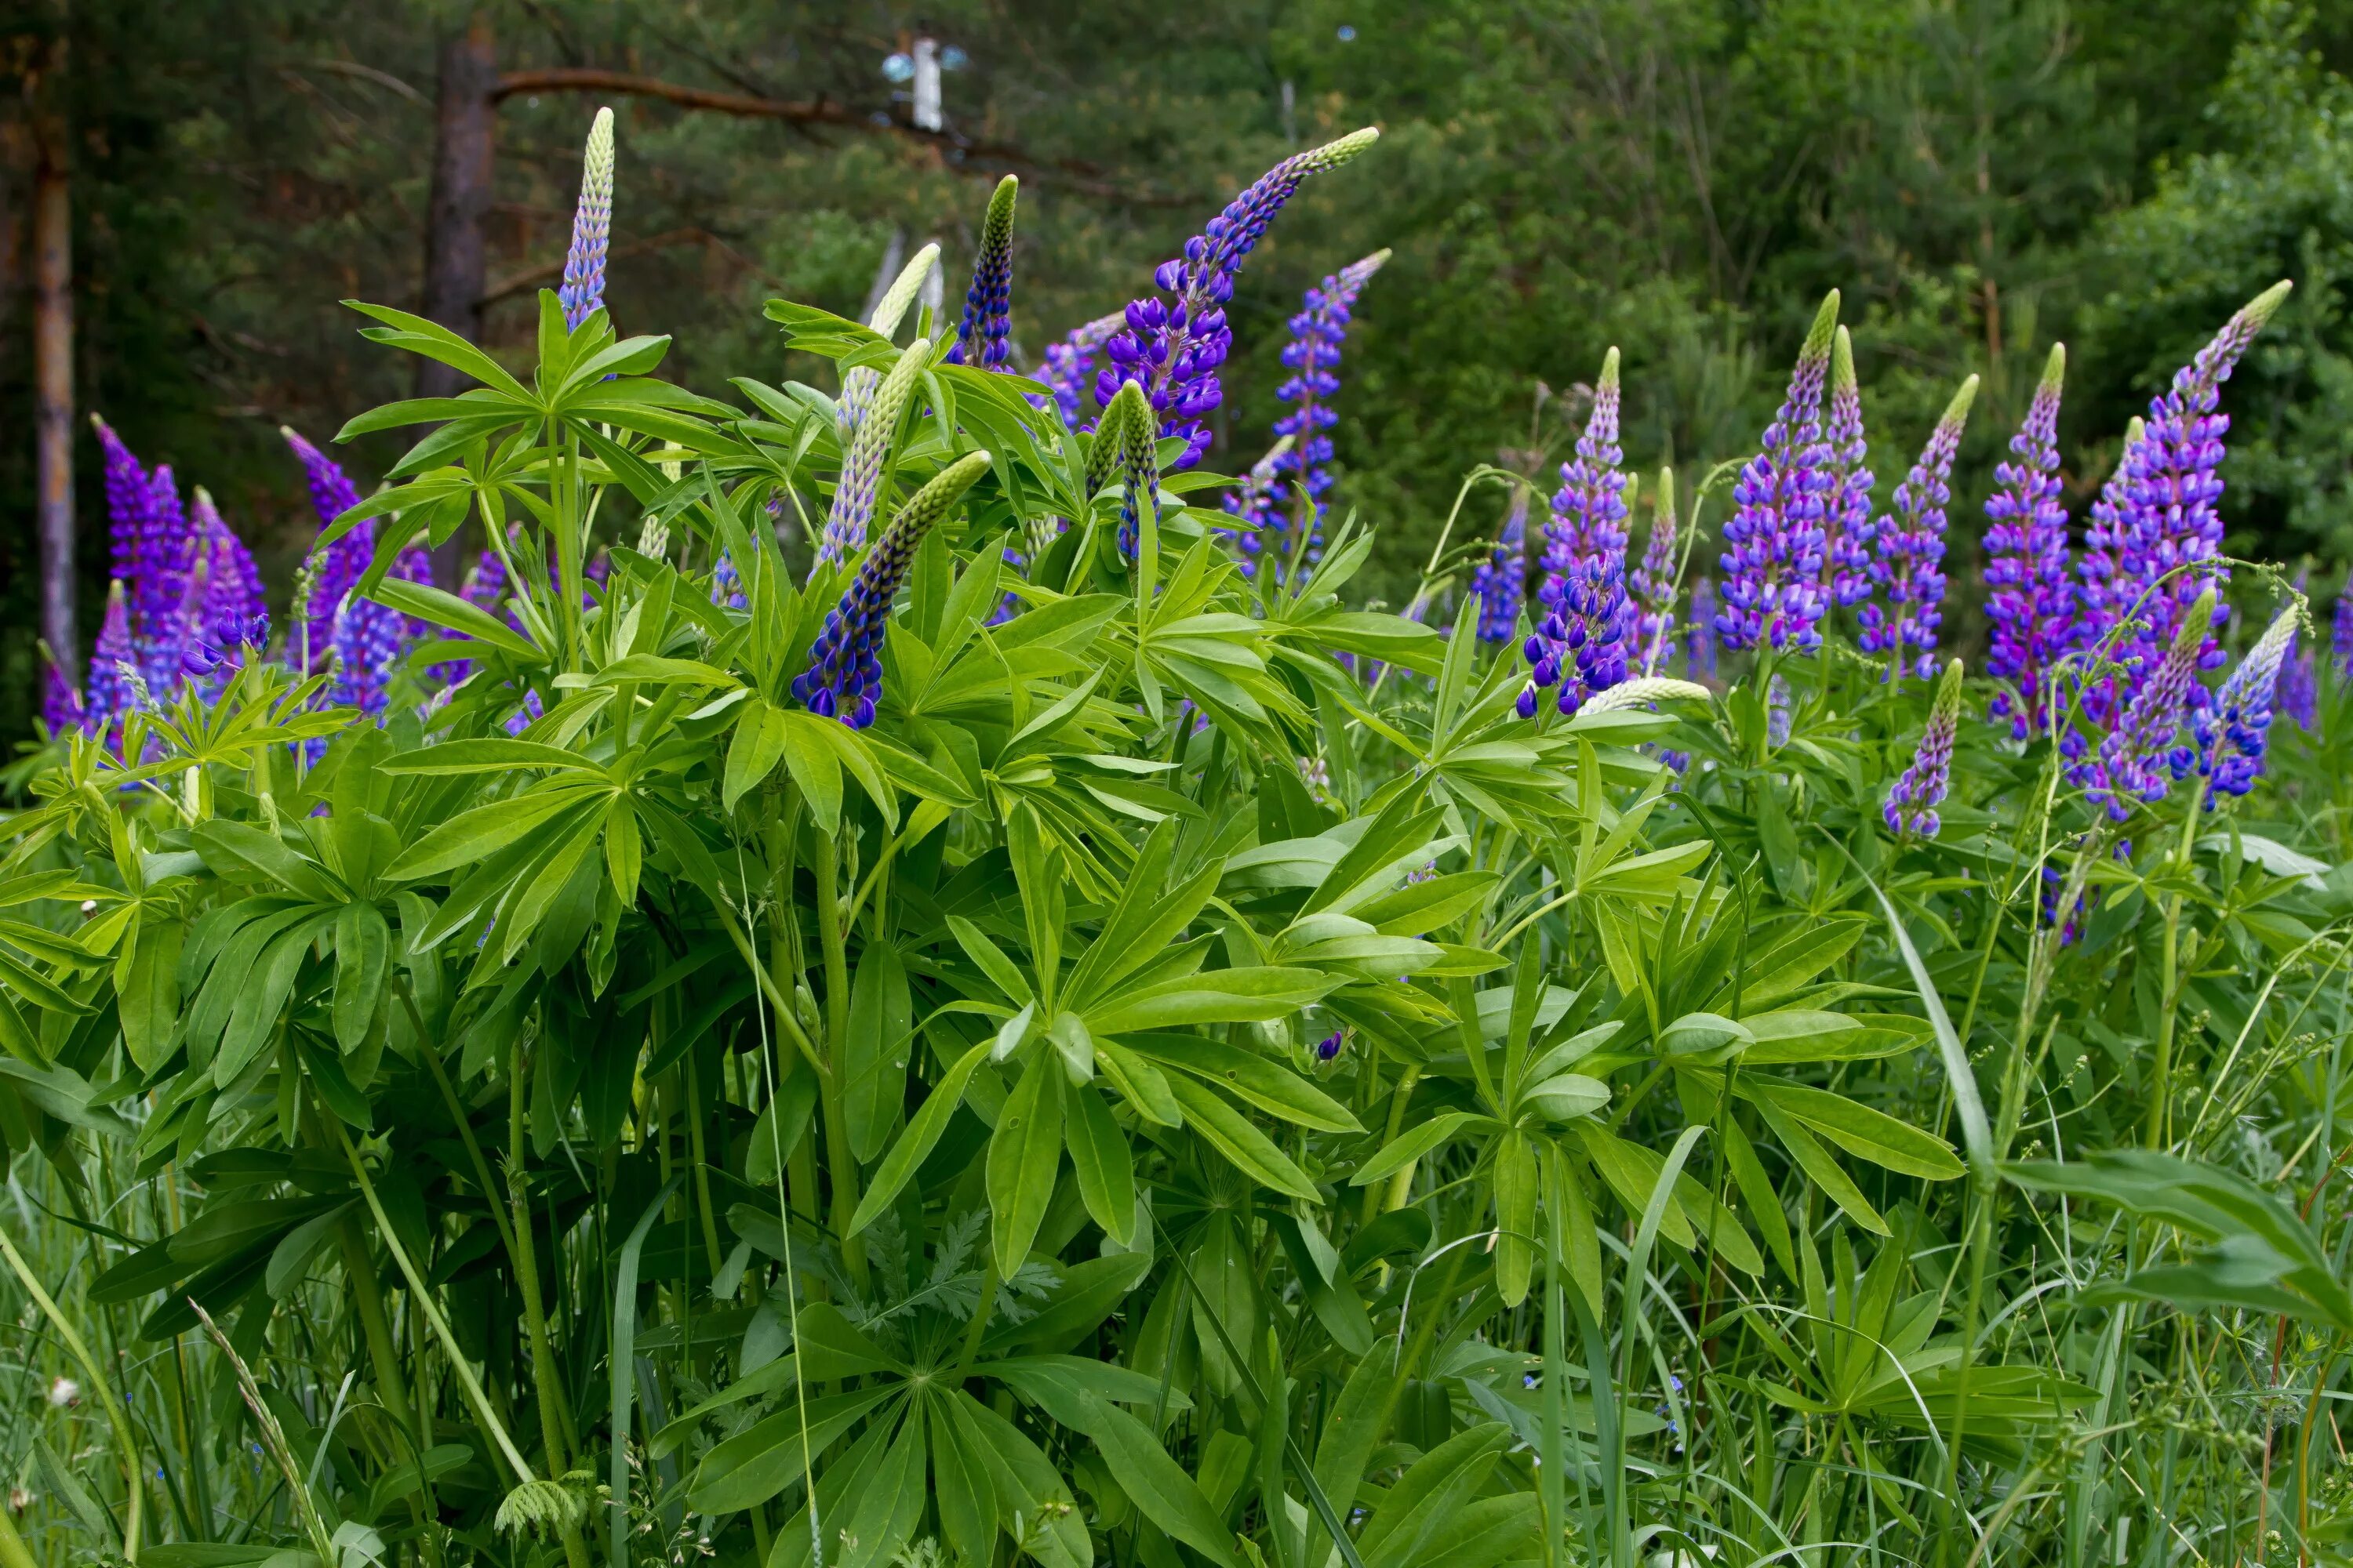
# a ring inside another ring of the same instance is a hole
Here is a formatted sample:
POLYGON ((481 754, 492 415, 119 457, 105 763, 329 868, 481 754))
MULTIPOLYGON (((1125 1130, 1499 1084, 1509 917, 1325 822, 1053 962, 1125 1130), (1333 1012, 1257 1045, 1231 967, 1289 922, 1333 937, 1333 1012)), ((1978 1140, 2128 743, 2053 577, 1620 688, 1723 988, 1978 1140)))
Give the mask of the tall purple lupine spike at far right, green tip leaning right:
MULTIPOLYGON (((2181 616, 2207 585, 2226 583, 2221 559, 2221 437, 2231 416, 2217 411, 2221 383, 2231 378, 2254 334, 2287 299, 2292 284, 2275 282, 2238 310, 2198 357, 2174 374, 2172 388, 2148 404, 2148 425, 2127 444, 2118 463, 2122 538, 2118 569, 2097 585, 2101 630, 2134 614, 2139 628, 2120 649, 2122 663, 2146 668, 2174 637, 2181 616)), ((2087 583, 2087 590, 2094 588, 2087 583)), ((2212 632, 2212 628, 2205 628, 2212 632)), ((2198 668, 2221 665, 2221 644, 2207 635, 2198 668)), ((2202 703, 2202 691, 2193 693, 2202 703)))

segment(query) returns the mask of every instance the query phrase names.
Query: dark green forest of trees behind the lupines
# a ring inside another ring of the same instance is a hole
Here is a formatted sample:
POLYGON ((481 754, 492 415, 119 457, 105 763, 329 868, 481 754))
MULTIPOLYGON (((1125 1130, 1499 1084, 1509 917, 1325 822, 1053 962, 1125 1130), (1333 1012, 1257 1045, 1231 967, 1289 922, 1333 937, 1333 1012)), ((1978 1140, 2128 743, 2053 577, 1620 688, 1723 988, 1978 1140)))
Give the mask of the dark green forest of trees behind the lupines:
MULTIPOLYGON (((2233 552, 2313 555, 2325 597, 2353 557, 2348 73, 2353 5, 2282 0, 16 0, 0 745, 40 696, 42 179, 71 197, 78 654, 106 592, 85 416, 205 484, 282 614, 318 522, 280 425, 325 440, 412 390, 339 301, 525 353, 598 103, 624 169, 607 301, 624 331, 678 334, 668 371, 713 395, 718 367, 814 376, 769 296, 856 313, 894 244, 934 237, 953 289, 1007 169, 1033 367, 1287 148, 1379 125, 1379 174, 1313 183, 1252 256, 1207 465, 1266 449, 1301 289, 1391 247, 1337 444, 1341 508, 1381 527, 1360 581, 1393 604, 1461 477, 1539 470, 1565 444, 1539 388, 1574 404, 1612 343, 1628 461, 1697 475, 1748 451, 1840 287, 1873 468, 1901 473, 1977 371, 1958 473, 1984 484, 2064 339, 2080 512, 2162 376, 2294 277, 2233 383, 2224 510, 2233 552), (936 134, 892 66, 925 35, 955 66, 936 134), (478 252, 452 254, 449 200, 478 252)), ((341 454, 362 482, 395 456, 374 440, 341 454)), ((1457 527, 1501 512, 1489 489, 1457 527)), ((1977 564, 1955 567, 1967 651, 1977 564)))

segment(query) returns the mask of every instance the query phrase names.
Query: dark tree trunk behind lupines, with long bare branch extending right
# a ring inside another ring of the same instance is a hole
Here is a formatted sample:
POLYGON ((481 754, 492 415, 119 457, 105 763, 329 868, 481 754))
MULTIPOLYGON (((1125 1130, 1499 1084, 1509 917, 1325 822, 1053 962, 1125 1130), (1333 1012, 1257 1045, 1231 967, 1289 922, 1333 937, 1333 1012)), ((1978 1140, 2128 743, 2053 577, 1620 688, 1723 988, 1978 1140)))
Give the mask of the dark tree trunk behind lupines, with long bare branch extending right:
MULTIPOLYGON (((482 289, 489 212, 492 148, 499 129, 499 56, 489 14, 473 12, 464 33, 440 42, 440 87, 433 108, 433 197, 426 207, 424 315, 468 343, 482 339, 482 289)), ((466 376, 440 360, 416 362, 419 397, 454 397, 466 376)), ((456 588, 464 550, 456 534, 433 552, 433 581, 456 588)))

